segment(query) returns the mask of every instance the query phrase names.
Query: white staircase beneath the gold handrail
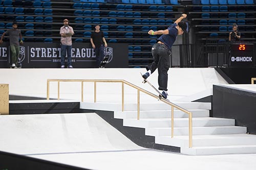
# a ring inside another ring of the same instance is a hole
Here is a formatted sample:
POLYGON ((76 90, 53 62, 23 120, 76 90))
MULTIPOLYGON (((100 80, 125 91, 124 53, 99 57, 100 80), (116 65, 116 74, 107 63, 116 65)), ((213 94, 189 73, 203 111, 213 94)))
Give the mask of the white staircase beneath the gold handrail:
MULTIPOLYGON (((123 119, 123 126, 144 128, 145 135, 154 136, 155 143, 179 147, 182 154, 215 155, 256 153, 256 135, 246 134, 246 127, 235 126, 234 119, 209 117, 210 103, 173 102, 193 113, 193 147, 188 142, 188 115, 174 110, 174 137, 171 137, 170 106, 164 103, 140 104, 140 119, 137 119, 137 104, 112 106, 114 117, 123 119)), ((102 103, 101 106, 104 104, 102 103)), ((89 106, 89 105, 87 105, 89 106)), ((111 106, 105 104, 108 110, 111 106)), ((99 107, 99 104, 97 104, 99 107)), ((102 109, 103 110, 103 109, 102 109)))

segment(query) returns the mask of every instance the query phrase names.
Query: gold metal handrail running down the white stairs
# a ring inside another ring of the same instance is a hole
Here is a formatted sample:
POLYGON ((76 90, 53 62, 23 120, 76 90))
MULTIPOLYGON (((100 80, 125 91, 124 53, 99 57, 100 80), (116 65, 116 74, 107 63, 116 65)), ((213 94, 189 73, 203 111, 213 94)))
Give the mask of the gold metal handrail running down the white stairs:
POLYGON ((188 110, 170 102, 167 99, 159 98, 158 95, 153 94, 149 91, 144 90, 141 87, 138 87, 130 82, 125 80, 100 80, 100 79, 47 79, 47 100, 50 99, 50 82, 58 82, 58 100, 59 100, 59 87, 60 82, 81 82, 81 101, 83 102, 83 83, 84 82, 94 82, 94 103, 96 103, 96 93, 97 93, 97 84, 98 82, 104 83, 122 83, 122 111, 124 111, 124 84, 129 85, 138 90, 137 92, 137 119, 140 119, 140 92, 144 92, 147 95, 152 96, 153 98, 159 99, 160 101, 172 106, 172 138, 174 137, 174 108, 183 111, 184 113, 188 114, 188 130, 189 130, 189 148, 192 147, 192 113, 188 110))

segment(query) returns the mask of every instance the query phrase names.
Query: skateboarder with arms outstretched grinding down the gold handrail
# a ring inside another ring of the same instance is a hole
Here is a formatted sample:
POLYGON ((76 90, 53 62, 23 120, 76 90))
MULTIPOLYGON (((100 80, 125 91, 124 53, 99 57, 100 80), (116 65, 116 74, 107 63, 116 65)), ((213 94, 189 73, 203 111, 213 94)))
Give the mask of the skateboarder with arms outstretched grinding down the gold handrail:
POLYGON ((187 25, 181 21, 186 18, 186 14, 182 14, 173 25, 169 26, 166 30, 148 31, 150 35, 161 35, 157 39, 157 43, 152 46, 153 62, 146 66, 147 72, 142 77, 147 79, 158 68, 158 85, 159 90, 162 90, 163 98, 167 98, 167 83, 169 69, 169 59, 171 55, 171 48, 177 39, 178 35, 187 32, 187 25))

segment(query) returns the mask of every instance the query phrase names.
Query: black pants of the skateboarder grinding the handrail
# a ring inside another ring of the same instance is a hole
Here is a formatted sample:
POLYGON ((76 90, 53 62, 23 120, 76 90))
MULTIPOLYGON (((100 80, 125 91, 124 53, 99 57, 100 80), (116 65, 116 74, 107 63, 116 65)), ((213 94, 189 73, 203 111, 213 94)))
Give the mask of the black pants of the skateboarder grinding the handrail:
POLYGON ((153 73, 158 68, 159 90, 167 91, 170 51, 164 44, 156 43, 152 46, 152 55, 154 61, 146 66, 146 70, 153 73))

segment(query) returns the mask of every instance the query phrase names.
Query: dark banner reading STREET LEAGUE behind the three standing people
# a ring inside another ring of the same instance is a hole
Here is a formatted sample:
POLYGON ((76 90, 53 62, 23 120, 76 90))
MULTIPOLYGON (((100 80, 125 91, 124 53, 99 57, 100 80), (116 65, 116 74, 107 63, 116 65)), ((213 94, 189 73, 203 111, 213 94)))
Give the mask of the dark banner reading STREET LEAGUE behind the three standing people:
MULTIPOLYGON (((106 68, 128 67, 128 44, 109 43, 104 48, 104 56, 108 56, 106 68)), ((20 45, 18 62, 23 68, 60 68, 60 43, 24 42, 20 45)), ((67 60, 67 58, 66 58, 67 60)), ((9 42, 0 45, 0 68, 11 65, 9 42)), ((74 68, 96 67, 95 52, 90 43, 72 44, 72 66, 74 68)))

